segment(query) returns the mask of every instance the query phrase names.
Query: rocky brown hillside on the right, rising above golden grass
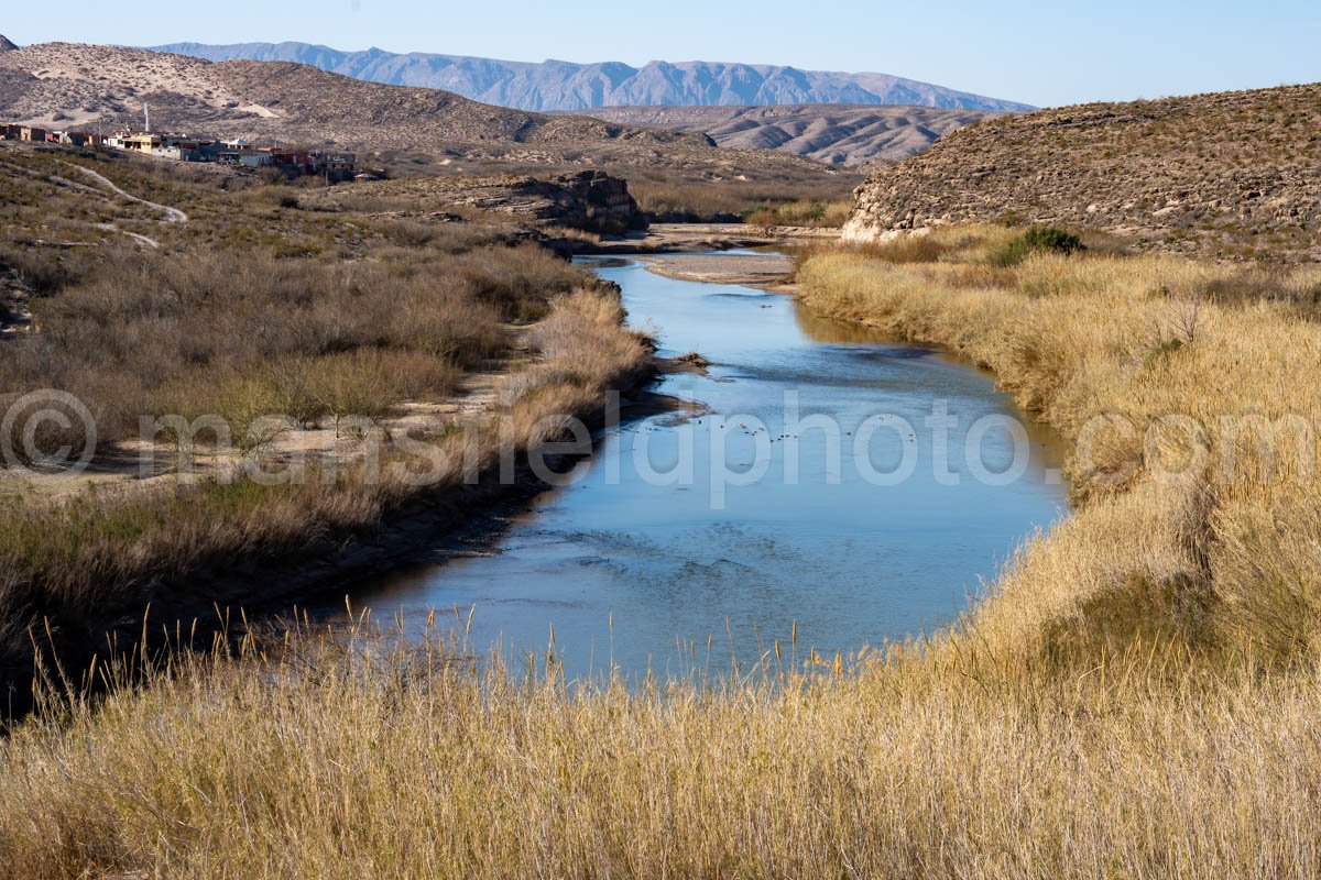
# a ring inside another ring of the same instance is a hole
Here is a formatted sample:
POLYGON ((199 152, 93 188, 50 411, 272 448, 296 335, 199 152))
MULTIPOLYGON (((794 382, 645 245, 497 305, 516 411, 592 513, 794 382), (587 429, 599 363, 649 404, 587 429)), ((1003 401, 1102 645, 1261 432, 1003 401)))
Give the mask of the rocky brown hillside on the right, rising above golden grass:
POLYGON ((1321 84, 1003 116, 877 172, 845 235, 1021 219, 1151 249, 1321 259, 1317 119, 1321 84))

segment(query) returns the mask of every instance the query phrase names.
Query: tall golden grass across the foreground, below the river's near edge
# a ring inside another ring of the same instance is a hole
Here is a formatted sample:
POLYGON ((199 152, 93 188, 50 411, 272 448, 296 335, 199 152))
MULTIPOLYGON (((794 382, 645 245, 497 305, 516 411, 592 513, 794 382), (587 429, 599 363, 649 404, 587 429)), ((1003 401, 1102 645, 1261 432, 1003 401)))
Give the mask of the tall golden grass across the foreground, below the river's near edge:
POLYGON ((546 656, 530 682, 431 648, 304 637, 29 723, 0 745, 0 875, 1321 868, 1310 676, 1207 677, 1143 650, 1079 678, 897 652, 630 691, 565 687, 546 656))

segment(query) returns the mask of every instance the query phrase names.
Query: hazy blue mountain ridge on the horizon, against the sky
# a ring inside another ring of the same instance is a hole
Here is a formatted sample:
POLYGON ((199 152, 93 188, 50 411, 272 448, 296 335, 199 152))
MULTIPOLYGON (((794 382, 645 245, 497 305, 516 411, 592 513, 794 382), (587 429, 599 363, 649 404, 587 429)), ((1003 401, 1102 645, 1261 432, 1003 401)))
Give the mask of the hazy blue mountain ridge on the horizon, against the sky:
POLYGON ((580 65, 396 54, 380 49, 341 51, 304 42, 206 45, 177 42, 156 51, 206 61, 292 61, 391 86, 443 88, 487 104, 539 112, 597 107, 715 107, 769 104, 901 104, 1024 112, 1029 104, 1000 100, 889 74, 847 74, 774 65, 653 61, 580 65))

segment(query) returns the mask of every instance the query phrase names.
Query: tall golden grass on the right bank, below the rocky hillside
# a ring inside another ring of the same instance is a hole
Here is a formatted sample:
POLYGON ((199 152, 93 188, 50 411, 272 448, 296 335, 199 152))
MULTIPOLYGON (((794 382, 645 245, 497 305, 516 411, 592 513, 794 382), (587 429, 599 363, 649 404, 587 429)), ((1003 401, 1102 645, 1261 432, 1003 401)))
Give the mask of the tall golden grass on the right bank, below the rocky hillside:
POLYGON ((1024 551, 980 611, 979 637, 1030 645, 1061 620, 1086 629, 1086 608, 1127 600, 1135 583, 1184 584, 1197 599, 1184 611, 1206 617, 1199 646, 1305 652, 1321 633, 1321 471, 1306 430, 1272 427, 1321 417, 1321 273, 1276 272, 1263 288, 1262 270, 1174 257, 982 265, 1005 235, 894 245, 939 252, 934 263, 834 253, 799 270, 814 309, 951 346, 1081 441, 1070 470, 1086 503, 1024 551))

